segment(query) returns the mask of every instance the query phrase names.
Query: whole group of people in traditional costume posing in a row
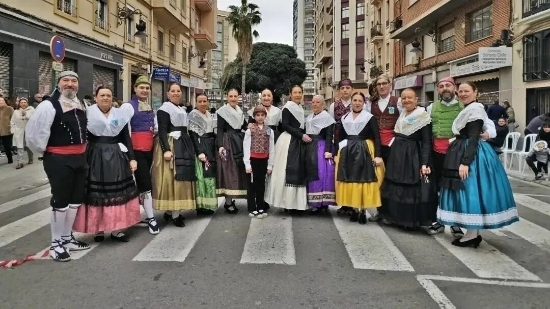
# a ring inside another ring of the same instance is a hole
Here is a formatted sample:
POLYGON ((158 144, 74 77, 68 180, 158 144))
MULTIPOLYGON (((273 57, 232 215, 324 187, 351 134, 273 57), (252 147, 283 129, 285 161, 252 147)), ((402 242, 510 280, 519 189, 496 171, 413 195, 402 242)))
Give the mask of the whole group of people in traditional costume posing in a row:
POLYGON ((90 248, 73 231, 95 234, 97 242, 110 232, 126 242, 124 230, 141 223, 158 234, 153 209, 184 227, 183 211, 212 215, 218 197, 230 214, 238 213, 235 199, 246 198, 249 216, 259 219, 270 206, 317 214, 339 205, 338 214, 360 224, 382 219, 431 235, 447 224, 457 246, 477 247, 481 229, 519 220, 502 164, 486 142, 496 131, 474 84, 457 88, 442 79, 441 100, 427 108, 412 89, 390 95, 386 75, 375 85, 367 98, 344 79, 340 100, 327 111, 324 98, 314 96, 307 117, 299 85, 282 109, 266 89, 246 113, 239 92, 230 90, 215 127, 208 97, 197 96, 189 112, 175 83, 155 114, 146 76, 118 109, 112 90, 98 87, 85 113, 76 98, 79 76, 62 72, 25 135, 31 151, 43 154, 51 184, 50 256, 69 261, 70 251, 90 248))

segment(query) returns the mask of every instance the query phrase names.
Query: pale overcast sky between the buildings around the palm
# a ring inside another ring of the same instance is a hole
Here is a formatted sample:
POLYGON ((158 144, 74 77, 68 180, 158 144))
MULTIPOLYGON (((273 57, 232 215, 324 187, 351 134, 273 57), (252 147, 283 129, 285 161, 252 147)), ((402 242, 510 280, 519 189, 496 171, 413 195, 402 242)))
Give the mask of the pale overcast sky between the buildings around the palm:
MULTIPOLYGON (((240 5, 240 0, 218 0, 218 9, 240 5)), ((262 23, 255 28, 260 37, 255 42, 283 43, 292 46, 293 0, 248 0, 260 7, 262 23)))

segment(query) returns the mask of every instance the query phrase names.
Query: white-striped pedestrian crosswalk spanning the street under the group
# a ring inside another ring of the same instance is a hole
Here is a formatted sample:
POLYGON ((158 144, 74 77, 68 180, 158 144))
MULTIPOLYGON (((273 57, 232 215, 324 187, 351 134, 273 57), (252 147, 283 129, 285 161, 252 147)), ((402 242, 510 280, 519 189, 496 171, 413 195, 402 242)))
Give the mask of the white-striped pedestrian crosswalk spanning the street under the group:
MULTIPOLYGON (((25 211, 26 208, 22 206, 46 197, 48 197, 47 190, 42 190, 34 195, 14 200, 13 204, 4 203, 2 207, 5 208, 0 208, 0 213, 17 211, 19 207, 21 207, 21 211, 25 211)), ((527 217, 522 217, 519 223, 514 223, 503 229, 483 231, 482 236, 485 241, 478 249, 451 245, 452 236, 448 229, 444 234, 429 236, 421 232, 404 232, 395 227, 373 222, 360 225, 350 222, 347 216, 339 216, 335 212, 335 208, 331 208, 328 214, 321 216, 294 216, 284 213, 280 209, 272 209, 270 216, 263 219, 249 218, 245 212, 233 216, 224 213, 223 208, 210 217, 197 217, 194 212, 189 212, 185 214, 185 228, 177 228, 168 224, 162 227, 160 234, 153 236, 147 233, 146 228, 135 227, 129 231, 131 240, 124 246, 125 251, 129 252, 126 256, 128 262, 185 263, 188 257, 193 255, 192 252, 200 254, 200 252, 197 253, 200 248, 211 246, 209 242, 213 239, 229 239, 222 233, 239 233, 232 235, 231 239, 243 241, 229 244, 223 249, 234 250, 227 256, 231 258, 240 256, 240 260, 236 258, 223 262, 279 264, 293 267, 299 265, 300 261, 317 260, 318 258, 318 256, 307 256, 308 250, 298 250, 307 248, 299 247, 307 244, 297 242, 295 235, 296 231, 302 231, 302 233, 304 231, 298 228, 300 224, 306 220, 314 220, 313 230, 318 229, 318 233, 329 232, 334 238, 330 241, 321 241, 317 245, 325 246, 326 252, 338 255, 336 260, 351 262, 351 266, 355 269, 418 273, 417 269, 422 269, 422 272, 426 271, 426 266, 422 264, 425 262, 431 263, 429 266, 433 268, 431 274, 448 274, 449 263, 445 264, 447 269, 438 268, 440 267, 437 263, 438 256, 442 256, 452 260, 453 263, 450 264, 465 269, 466 272, 469 269, 470 277, 542 282, 541 268, 524 263, 521 261, 521 257, 530 254, 522 252, 526 246, 530 246, 532 250, 542 251, 545 255, 550 252, 550 230, 548 230, 550 224, 544 223, 548 222, 547 219, 550 218, 550 204, 528 195, 516 194, 514 197, 518 203, 520 214, 526 209, 527 217), (220 229, 219 226, 227 224, 227 220, 232 220, 231 224, 240 225, 240 227, 231 230, 220 229), (414 241, 414 243, 409 244, 407 241, 414 241), (510 241, 521 241, 521 244, 525 244, 525 246, 514 247, 510 241), (329 250, 326 247, 328 245, 337 248, 329 250), (425 247, 429 247, 430 251, 426 252, 425 247), (128 248, 131 250, 127 250, 128 248), (238 254, 235 254, 237 252, 238 254), (510 254, 511 252, 513 254, 510 254)), ((47 205, 44 206, 47 207, 47 205)), ((30 212, 32 212, 31 209, 36 209, 36 207, 30 207, 30 212)), ((24 247, 27 253, 43 249, 48 243, 44 234, 45 229, 42 228, 50 223, 50 215, 51 209, 43 208, 40 211, 27 214, 26 217, 16 216, 17 218, 13 222, 1 225, 0 260, 15 258, 6 255, 12 254, 13 250, 11 249, 16 246, 29 246, 24 247), (38 231, 40 229, 42 229, 40 237, 46 241, 41 247, 20 241, 27 236, 40 234, 38 231)), ((161 216, 162 213, 157 213, 157 217, 161 216)), ((84 260, 83 263, 93 263, 94 259, 108 256, 105 252, 119 250, 119 245, 122 246, 122 244, 113 244, 108 239, 98 244, 94 242, 93 235, 76 234, 76 237, 91 245, 90 250, 71 252, 73 260, 84 260)), ((224 255, 224 252, 220 254, 224 255)), ((73 261, 73 263, 80 262, 73 261)), ((37 261, 35 263, 48 262, 37 261)), ((545 275, 546 277, 542 277, 548 278, 548 274, 545 275)))

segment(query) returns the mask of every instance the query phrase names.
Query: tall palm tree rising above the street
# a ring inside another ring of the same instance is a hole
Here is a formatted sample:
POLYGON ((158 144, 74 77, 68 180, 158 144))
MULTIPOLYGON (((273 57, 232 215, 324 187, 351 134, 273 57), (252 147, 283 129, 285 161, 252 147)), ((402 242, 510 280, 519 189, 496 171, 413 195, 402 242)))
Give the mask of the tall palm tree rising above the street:
POLYGON ((258 10, 260 7, 247 0, 241 0, 240 7, 229 5, 229 25, 233 27, 233 37, 239 46, 239 54, 243 59, 243 76, 241 78, 241 93, 245 93, 246 65, 250 62, 252 53, 252 36, 258 37, 258 31, 252 31, 252 27, 261 23, 262 16, 258 10))

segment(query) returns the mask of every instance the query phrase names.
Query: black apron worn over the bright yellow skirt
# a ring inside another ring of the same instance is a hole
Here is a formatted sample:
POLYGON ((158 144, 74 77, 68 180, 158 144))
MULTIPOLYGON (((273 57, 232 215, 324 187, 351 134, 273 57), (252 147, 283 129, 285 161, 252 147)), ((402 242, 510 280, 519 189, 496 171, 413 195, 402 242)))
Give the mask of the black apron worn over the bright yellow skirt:
POLYGON ((378 181, 373 156, 368 151, 365 137, 349 135, 348 144, 340 151, 338 181, 372 183, 378 181))

